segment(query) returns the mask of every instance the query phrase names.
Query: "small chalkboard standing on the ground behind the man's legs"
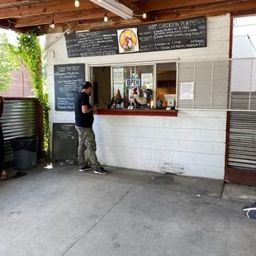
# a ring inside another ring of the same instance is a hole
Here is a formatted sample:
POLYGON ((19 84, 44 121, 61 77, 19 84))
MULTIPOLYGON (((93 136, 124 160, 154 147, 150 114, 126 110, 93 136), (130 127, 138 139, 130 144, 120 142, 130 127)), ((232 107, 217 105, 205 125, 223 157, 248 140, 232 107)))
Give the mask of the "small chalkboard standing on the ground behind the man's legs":
POLYGON ((53 160, 76 162, 77 154, 78 133, 75 126, 73 124, 53 124, 53 160))

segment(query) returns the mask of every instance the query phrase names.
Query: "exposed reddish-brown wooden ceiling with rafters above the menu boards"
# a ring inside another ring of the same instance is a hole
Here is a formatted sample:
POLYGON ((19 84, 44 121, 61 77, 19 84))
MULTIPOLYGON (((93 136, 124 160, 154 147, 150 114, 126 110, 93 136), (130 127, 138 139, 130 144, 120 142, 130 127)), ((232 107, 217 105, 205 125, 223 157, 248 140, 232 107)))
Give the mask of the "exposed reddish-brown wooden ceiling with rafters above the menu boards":
POLYGON ((22 31, 34 29, 40 25, 46 33, 74 27, 75 30, 101 29, 111 26, 130 26, 155 22, 172 21, 183 18, 224 15, 227 12, 239 12, 256 9, 255 0, 119 0, 135 13, 132 20, 123 20, 115 14, 95 6, 89 0, 81 0, 74 7, 73 0, 0 0, 0 26, 9 26, 22 31), (147 19, 142 13, 147 12, 147 19), (107 12, 108 22, 103 22, 107 12), (55 15, 55 29, 49 29, 55 15), (2 25, 1 25, 2 24, 2 25))

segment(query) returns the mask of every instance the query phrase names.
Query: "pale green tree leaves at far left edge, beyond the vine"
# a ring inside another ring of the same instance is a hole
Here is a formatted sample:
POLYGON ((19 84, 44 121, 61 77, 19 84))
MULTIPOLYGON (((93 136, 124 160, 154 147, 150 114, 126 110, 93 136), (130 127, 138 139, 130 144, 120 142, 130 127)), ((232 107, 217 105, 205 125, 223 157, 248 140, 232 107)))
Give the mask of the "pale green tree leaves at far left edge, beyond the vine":
POLYGON ((0 92, 9 88, 13 70, 19 69, 15 47, 8 43, 6 33, 0 34, 0 92))

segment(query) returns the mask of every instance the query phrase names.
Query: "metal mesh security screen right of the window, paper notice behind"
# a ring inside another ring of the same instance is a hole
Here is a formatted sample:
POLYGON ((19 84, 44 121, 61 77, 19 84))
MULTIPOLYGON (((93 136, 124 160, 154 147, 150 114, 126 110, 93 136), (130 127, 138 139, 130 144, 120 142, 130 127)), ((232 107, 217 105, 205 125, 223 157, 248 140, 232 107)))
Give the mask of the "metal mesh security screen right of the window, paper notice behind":
POLYGON ((177 109, 256 111, 256 59, 178 62, 177 109))

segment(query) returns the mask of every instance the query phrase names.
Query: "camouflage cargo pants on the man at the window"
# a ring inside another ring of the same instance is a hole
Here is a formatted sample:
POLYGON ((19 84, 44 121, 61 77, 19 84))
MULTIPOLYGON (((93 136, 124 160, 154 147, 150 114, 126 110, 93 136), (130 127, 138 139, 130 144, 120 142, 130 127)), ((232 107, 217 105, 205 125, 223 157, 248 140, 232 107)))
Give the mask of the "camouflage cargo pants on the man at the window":
POLYGON ((96 141, 95 135, 92 128, 83 128, 76 126, 78 131, 78 165, 79 167, 84 167, 86 165, 85 155, 91 160, 92 168, 97 170, 102 167, 102 165, 97 161, 96 156, 96 141))

